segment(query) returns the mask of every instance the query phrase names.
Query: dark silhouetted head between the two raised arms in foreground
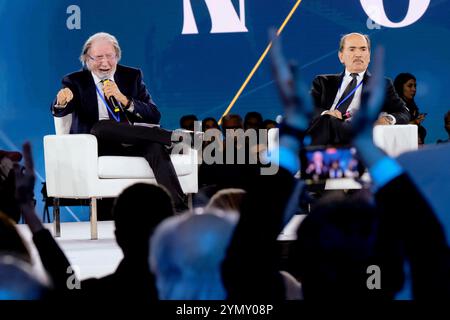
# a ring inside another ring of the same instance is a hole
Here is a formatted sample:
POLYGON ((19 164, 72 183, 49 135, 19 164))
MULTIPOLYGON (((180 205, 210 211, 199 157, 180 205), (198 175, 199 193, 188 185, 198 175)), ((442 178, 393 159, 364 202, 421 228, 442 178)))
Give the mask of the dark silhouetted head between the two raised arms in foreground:
MULTIPOLYGON (((401 288, 391 282, 390 261, 380 266, 379 215, 364 197, 332 196, 321 199, 297 231, 295 273, 300 279, 305 299, 318 298, 388 298, 401 288), (380 266, 383 289, 369 290, 370 266, 380 266), (389 265, 389 269, 388 266, 389 265)), ((390 249, 389 249, 390 250, 390 249)), ((398 258, 393 255, 390 257, 398 258)), ((399 268, 402 264, 399 263, 399 268)), ((398 271, 398 270, 395 270, 398 271)), ((401 272, 401 271, 399 271, 401 272)), ((401 274, 394 281, 401 283, 401 274)))

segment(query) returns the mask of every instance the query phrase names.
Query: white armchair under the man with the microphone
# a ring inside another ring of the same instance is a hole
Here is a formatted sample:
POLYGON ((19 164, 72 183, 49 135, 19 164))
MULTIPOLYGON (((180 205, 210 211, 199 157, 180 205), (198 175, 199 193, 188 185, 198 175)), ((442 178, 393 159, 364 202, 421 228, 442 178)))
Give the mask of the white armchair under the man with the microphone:
MULTIPOLYGON (((54 118, 56 135, 44 137, 47 195, 54 201, 55 235, 61 234, 58 199, 89 199, 91 239, 97 239, 98 198, 117 197, 137 182, 156 183, 143 157, 98 156, 97 139, 91 134, 67 134, 71 115, 54 118)), ((198 191, 197 151, 170 155, 186 194, 198 191)))

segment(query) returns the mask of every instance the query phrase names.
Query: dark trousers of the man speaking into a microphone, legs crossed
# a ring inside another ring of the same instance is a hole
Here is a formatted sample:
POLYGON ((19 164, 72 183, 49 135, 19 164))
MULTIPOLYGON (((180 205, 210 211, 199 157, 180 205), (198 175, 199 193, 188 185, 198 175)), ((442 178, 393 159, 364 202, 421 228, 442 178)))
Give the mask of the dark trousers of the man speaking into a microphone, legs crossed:
POLYGON ((169 151, 165 147, 172 144, 171 131, 102 120, 92 127, 91 133, 97 137, 99 156, 144 157, 158 184, 169 191, 175 208, 186 209, 183 190, 170 160, 169 151))

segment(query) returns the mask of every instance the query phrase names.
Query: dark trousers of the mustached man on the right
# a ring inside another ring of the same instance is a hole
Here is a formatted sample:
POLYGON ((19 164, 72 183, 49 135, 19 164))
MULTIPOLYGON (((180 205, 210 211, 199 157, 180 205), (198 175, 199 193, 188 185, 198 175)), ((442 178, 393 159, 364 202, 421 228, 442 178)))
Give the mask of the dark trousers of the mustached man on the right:
POLYGON ((322 115, 308 129, 312 146, 351 143, 350 123, 330 115, 322 115))

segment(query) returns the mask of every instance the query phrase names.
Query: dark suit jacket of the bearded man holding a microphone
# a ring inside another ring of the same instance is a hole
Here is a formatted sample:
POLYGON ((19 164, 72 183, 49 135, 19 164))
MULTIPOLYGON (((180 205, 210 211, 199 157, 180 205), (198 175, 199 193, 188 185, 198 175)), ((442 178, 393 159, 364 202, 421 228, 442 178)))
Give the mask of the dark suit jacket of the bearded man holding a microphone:
MULTIPOLYGON (((161 114, 147 91, 139 69, 117 65, 114 81, 120 91, 134 103, 134 111, 126 111, 130 121, 159 123, 161 114)), ((63 117, 72 113, 70 133, 90 133, 92 126, 98 121, 97 92, 91 72, 82 70, 66 75, 62 86, 73 92, 73 100, 64 109, 54 108, 56 100, 53 101, 52 114, 63 117)))

